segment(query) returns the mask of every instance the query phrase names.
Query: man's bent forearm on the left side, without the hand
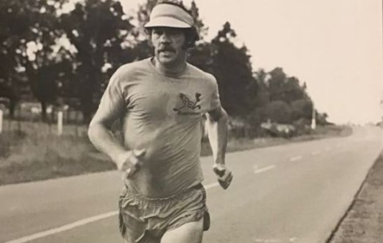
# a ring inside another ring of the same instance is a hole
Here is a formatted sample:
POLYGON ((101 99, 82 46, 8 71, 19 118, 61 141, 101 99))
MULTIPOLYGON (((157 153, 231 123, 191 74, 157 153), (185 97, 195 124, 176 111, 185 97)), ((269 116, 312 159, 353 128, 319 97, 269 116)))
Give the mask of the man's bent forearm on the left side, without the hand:
POLYGON ((107 154, 116 164, 120 162, 121 156, 127 153, 126 149, 102 124, 91 124, 88 129, 88 136, 93 145, 107 154))

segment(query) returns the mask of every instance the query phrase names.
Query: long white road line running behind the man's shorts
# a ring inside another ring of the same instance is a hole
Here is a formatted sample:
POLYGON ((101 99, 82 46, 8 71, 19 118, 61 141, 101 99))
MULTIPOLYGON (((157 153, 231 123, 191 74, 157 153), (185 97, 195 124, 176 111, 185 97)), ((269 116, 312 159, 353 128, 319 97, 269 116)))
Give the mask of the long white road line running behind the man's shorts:
MULTIPOLYGON (((208 185, 206 185, 204 187, 205 187, 205 189, 211 189, 211 188, 215 188, 215 187, 218 187, 218 186, 219 186, 219 183, 216 182, 216 183, 208 184, 208 185)), ((36 240, 36 239, 39 239, 39 238, 43 238, 43 237, 46 237, 46 236, 58 234, 58 233, 61 233, 61 232, 64 232, 64 231, 67 231, 67 230, 70 230, 70 229, 73 229, 73 228, 76 228, 76 227, 80 227, 82 225, 85 225, 85 224, 88 224, 88 223, 92 223, 92 222, 95 222, 95 221, 98 221, 98 220, 101 220, 101 219, 104 219, 104 218, 108 218, 108 217, 111 217, 111 216, 116 216, 117 214, 118 214, 118 211, 112 211, 112 212, 101 214, 101 215, 87 217, 87 218, 75 221, 73 223, 62 225, 62 226, 57 227, 57 228, 41 231, 41 232, 38 232, 38 233, 35 233, 35 234, 32 234, 32 235, 24 236, 22 238, 11 240, 11 241, 7 241, 7 242, 3 242, 3 243, 26 243, 26 242, 30 242, 30 241, 33 241, 33 240, 36 240)))

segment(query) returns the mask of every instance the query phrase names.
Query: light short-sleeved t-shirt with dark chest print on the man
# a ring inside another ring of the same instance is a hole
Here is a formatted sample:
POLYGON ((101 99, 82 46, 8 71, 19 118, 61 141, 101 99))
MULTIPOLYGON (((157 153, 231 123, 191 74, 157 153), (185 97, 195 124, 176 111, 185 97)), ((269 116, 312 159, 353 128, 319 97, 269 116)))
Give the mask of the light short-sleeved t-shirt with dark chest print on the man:
POLYGON ((123 119, 127 149, 146 150, 144 165, 128 186, 164 197, 200 183, 201 118, 219 107, 216 79, 190 64, 174 76, 160 73, 150 58, 121 66, 99 112, 123 119))

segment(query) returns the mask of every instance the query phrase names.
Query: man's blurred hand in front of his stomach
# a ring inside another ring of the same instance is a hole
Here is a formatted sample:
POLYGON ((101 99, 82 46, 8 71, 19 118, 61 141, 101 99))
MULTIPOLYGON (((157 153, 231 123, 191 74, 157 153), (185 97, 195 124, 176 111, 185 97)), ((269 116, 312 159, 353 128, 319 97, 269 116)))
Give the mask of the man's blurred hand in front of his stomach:
POLYGON ((144 149, 134 149, 121 155, 122 159, 117 163, 118 170, 126 173, 126 177, 131 178, 143 165, 144 149))

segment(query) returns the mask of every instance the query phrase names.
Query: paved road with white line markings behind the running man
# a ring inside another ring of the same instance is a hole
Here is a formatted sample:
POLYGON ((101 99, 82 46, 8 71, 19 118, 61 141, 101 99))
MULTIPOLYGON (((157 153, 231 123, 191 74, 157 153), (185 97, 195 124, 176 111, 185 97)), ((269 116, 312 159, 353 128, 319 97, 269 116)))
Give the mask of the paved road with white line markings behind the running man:
MULTIPOLYGON (((206 243, 323 243, 381 151, 377 127, 344 138, 230 153, 226 191, 203 158, 212 227, 206 243)), ((0 243, 122 242, 118 172, 0 187, 0 243)))

